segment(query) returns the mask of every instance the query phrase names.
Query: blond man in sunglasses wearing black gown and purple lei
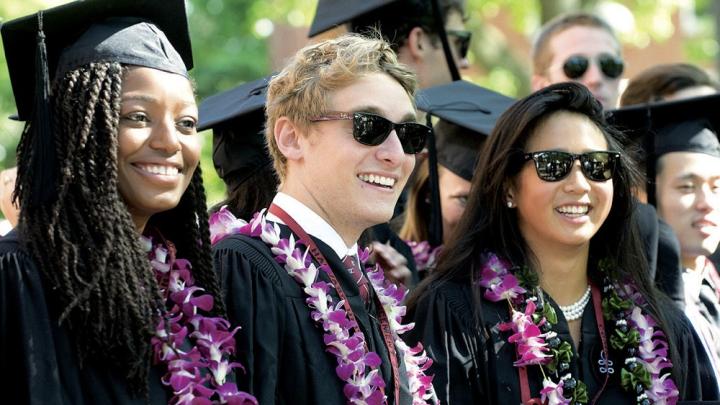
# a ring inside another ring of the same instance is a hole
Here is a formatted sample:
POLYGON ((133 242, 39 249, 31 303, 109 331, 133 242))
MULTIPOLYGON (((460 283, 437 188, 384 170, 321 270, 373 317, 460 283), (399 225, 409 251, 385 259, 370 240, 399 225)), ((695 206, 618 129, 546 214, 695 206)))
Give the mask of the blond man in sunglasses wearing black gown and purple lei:
POLYGON ((379 39, 344 35, 297 52, 267 89, 280 180, 249 222, 211 217, 214 265, 240 386, 260 403, 432 401, 430 362, 399 337, 402 290, 366 268, 357 240, 387 222, 430 129, 416 78, 379 39))

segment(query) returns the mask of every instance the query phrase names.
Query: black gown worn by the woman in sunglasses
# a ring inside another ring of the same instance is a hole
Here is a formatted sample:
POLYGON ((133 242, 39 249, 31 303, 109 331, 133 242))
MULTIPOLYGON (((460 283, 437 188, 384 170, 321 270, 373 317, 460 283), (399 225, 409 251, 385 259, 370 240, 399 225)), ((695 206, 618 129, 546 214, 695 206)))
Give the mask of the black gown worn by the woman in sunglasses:
MULTIPOLYGON (((555 306, 558 323, 553 330, 570 342, 570 332, 562 311, 555 306)), ((513 367, 515 346, 507 342, 507 333, 500 332, 497 325, 508 322, 510 316, 506 302, 482 300, 482 318, 476 321, 473 292, 469 283, 446 282, 431 286, 420 299, 413 314, 415 328, 405 337, 414 345, 422 341, 434 363, 433 385, 443 404, 519 404, 520 380, 518 369, 513 367), (478 327, 478 323, 481 327, 478 327)), ((669 310, 676 310, 674 307, 669 310)), ((595 311, 590 305, 582 317, 582 341, 570 372, 587 385, 592 400, 599 390, 604 375, 598 369, 602 348, 595 321, 595 311)), ((700 342, 687 324, 674 328, 678 334, 680 358, 687 374, 687 382, 681 399, 717 400, 717 385, 711 375, 707 357, 700 342)), ((626 393, 619 384, 621 360, 611 351, 610 360, 615 373, 597 404, 635 404, 634 395, 626 393)), ((530 392, 540 397, 542 377, 538 367, 528 367, 530 392)))

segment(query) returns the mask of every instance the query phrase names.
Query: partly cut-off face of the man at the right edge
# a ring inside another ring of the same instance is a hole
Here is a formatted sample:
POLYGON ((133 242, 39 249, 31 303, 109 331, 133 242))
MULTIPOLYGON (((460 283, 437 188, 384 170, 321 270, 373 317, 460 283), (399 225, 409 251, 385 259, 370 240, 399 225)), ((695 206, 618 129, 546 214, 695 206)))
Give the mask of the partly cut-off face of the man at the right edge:
POLYGON ((720 242, 720 159, 672 152, 658 163, 658 214, 680 241, 685 267, 715 251, 720 242))

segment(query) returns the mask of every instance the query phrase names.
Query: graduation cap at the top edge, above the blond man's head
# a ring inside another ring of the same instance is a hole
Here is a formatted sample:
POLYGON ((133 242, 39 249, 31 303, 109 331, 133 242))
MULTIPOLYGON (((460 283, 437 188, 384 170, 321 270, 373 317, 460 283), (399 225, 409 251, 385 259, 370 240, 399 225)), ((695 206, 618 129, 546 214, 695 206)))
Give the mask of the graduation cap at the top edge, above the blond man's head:
MULTIPOLYGON (((438 33, 443 46, 445 60, 453 80, 460 80, 460 72, 450 50, 450 43, 445 32, 445 21, 442 18, 439 0, 426 0, 432 7, 432 14, 418 15, 418 9, 403 0, 319 0, 315 17, 310 25, 309 37, 314 37, 338 25, 370 20, 368 26, 374 26, 373 16, 382 15, 392 21, 410 21, 418 25, 432 26, 438 33)), ((392 39, 391 39, 392 40, 392 39)))

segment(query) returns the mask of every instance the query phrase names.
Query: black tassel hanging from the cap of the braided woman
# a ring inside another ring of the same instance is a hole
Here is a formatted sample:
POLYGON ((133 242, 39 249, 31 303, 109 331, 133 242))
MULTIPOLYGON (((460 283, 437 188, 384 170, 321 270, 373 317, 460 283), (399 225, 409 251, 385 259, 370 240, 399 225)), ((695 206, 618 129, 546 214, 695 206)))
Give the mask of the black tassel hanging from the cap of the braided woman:
POLYGON ((35 53, 35 106, 31 118, 32 146, 30 170, 33 172, 33 205, 47 203, 55 193, 56 156, 50 105, 50 72, 48 67, 43 12, 37 14, 38 32, 35 53))

